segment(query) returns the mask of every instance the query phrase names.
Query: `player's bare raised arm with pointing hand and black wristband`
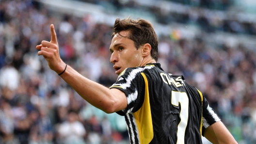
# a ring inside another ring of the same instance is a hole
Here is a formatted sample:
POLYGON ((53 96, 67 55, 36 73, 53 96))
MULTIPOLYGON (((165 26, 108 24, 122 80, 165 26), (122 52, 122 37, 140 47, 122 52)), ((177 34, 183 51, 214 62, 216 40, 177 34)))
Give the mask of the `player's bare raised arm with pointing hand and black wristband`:
MULTIPOLYGON (((59 54, 59 46, 54 26, 50 26, 51 41, 42 41, 36 48, 40 50, 38 55, 44 56, 51 70, 60 74, 66 64, 59 54)), ((116 88, 109 89, 94 81, 91 81, 67 65, 64 73, 60 75, 84 100, 106 113, 113 113, 127 107, 125 94, 116 88)))

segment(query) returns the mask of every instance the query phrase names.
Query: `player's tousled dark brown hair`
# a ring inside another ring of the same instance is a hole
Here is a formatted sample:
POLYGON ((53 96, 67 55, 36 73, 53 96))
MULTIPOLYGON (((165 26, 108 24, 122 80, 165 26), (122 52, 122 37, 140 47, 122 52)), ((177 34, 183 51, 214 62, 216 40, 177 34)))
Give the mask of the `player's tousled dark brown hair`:
POLYGON ((151 45, 151 57, 156 61, 158 60, 158 37, 149 21, 144 19, 134 20, 130 17, 122 20, 116 18, 112 38, 117 33, 120 35, 120 32, 123 30, 128 30, 130 32, 127 37, 134 41, 134 45, 137 49, 139 49, 141 45, 149 43, 151 45))

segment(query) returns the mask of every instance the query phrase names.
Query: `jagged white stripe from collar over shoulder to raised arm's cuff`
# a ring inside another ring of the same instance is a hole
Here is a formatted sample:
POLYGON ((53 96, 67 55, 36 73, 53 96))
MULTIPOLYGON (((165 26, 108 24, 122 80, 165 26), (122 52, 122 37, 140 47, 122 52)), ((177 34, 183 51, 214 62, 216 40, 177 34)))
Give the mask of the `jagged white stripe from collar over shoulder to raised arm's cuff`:
POLYGON ((154 68, 154 66, 146 66, 144 68, 141 67, 137 67, 137 69, 133 69, 130 74, 128 75, 128 77, 126 78, 126 83, 124 84, 113 84, 112 86, 121 86, 124 89, 126 89, 127 87, 130 86, 131 81, 135 78, 135 76, 137 75, 137 73, 144 71, 145 69, 152 69, 154 68))

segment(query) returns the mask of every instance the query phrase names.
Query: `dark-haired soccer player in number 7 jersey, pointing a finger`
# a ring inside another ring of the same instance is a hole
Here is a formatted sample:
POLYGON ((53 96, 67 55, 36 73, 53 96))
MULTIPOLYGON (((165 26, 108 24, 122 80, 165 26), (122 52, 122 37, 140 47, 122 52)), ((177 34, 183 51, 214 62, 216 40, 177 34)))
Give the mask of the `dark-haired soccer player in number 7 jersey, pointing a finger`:
POLYGON ((164 72, 158 60, 158 38, 144 19, 117 18, 110 61, 118 74, 110 88, 93 82, 64 63, 54 26, 51 41, 36 48, 51 70, 92 105, 124 115, 131 144, 237 144, 208 105, 204 95, 183 76, 164 72))

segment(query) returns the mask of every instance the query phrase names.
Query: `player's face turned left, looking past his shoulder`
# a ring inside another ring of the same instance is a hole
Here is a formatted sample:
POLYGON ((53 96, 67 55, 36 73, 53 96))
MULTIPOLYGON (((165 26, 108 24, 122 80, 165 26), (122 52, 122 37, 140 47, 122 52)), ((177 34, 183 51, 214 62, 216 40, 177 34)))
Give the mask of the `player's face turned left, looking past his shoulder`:
POLYGON ((113 68, 118 75, 126 68, 139 67, 143 60, 142 48, 137 50, 134 42, 127 37, 128 34, 129 31, 121 31, 120 35, 114 35, 110 45, 110 62, 114 64, 113 68))

